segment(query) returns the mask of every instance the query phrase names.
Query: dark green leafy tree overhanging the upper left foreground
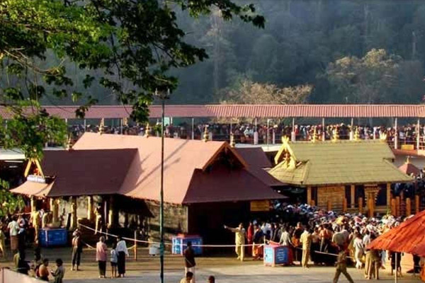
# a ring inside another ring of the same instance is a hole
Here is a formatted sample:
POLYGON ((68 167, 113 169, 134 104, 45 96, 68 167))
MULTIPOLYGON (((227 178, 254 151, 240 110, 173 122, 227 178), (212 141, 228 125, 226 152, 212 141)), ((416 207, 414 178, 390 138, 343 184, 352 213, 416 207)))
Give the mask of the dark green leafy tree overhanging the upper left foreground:
POLYGON ((78 81, 84 89, 103 86, 118 102, 132 105, 134 120, 147 120, 152 93, 177 86, 169 71, 208 58, 203 48, 184 41, 177 8, 193 17, 208 15, 214 8, 226 21, 237 16, 259 27, 265 21, 253 5, 231 0, 1 1, 0 105, 15 121, 0 125, 5 145, 20 146, 30 157, 41 156, 42 144, 54 132, 59 133, 54 138, 64 141, 63 125, 40 108, 43 97, 71 97, 82 103, 77 117, 84 117, 96 103, 68 76, 67 62, 88 73, 78 81), (49 54, 57 60, 47 62, 49 54), (93 71, 100 71, 100 76, 93 76, 93 71), (28 135, 34 131, 44 132, 28 135))

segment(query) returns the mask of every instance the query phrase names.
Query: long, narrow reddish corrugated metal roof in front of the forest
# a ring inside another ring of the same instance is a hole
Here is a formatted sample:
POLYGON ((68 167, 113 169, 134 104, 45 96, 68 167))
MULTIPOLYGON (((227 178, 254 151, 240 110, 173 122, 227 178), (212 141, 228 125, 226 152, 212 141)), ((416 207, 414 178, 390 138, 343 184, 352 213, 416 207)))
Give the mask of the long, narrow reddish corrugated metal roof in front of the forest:
MULTIPOLYGON (((74 119, 77 106, 45 106, 47 112, 74 119)), ((87 119, 129 117, 131 106, 95 105, 87 119)), ((161 117, 161 105, 149 107, 150 117, 161 117)), ((0 108, 1 117, 10 112, 0 108)), ((167 117, 425 117, 425 105, 166 105, 167 117)))

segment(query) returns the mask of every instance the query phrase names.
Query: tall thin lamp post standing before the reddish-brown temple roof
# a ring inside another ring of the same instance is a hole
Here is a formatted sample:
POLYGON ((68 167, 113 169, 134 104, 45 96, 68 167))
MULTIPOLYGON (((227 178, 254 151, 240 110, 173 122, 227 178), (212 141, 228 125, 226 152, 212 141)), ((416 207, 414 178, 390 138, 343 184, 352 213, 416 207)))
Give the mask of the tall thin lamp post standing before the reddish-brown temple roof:
POLYGON ((164 283, 164 112, 165 100, 170 96, 170 90, 166 92, 155 91, 155 96, 161 99, 161 190, 159 192, 159 277, 161 283, 164 283))

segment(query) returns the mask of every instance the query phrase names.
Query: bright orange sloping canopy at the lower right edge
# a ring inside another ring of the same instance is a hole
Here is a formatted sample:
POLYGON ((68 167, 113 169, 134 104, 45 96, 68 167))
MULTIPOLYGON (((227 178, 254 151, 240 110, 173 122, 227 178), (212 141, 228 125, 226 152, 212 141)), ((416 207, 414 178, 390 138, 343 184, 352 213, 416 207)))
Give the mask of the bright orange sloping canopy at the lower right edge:
POLYGON ((425 256, 425 211, 375 238, 367 248, 425 256))

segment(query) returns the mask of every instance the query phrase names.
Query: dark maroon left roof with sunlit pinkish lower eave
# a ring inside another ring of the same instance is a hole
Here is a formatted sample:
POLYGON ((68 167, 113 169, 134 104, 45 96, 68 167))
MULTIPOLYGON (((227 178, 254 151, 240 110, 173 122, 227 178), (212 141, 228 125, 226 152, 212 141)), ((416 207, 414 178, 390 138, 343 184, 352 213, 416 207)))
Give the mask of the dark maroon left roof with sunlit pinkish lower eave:
POLYGON ((27 181, 12 192, 38 197, 118 193, 137 149, 45 151, 42 171, 50 185, 27 181))

